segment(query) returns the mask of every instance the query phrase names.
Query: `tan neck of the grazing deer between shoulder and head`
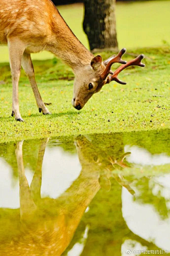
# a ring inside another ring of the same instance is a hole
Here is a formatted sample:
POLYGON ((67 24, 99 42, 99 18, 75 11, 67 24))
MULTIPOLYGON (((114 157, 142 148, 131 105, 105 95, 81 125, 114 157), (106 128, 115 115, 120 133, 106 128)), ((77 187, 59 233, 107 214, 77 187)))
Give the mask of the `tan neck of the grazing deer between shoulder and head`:
POLYGON ((74 36, 74 33, 72 33, 59 13, 53 15, 50 26, 52 40, 50 40, 47 50, 61 58, 64 63, 72 68, 74 73, 80 67, 91 63, 94 55, 74 36))

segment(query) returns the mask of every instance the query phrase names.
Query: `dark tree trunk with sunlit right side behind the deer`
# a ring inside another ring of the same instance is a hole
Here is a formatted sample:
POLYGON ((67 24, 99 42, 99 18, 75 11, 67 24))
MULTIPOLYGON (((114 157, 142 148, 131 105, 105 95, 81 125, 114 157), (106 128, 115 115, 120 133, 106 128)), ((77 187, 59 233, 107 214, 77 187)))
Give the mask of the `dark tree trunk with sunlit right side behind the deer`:
POLYGON ((84 0, 84 32, 91 50, 118 50, 115 0, 84 0))

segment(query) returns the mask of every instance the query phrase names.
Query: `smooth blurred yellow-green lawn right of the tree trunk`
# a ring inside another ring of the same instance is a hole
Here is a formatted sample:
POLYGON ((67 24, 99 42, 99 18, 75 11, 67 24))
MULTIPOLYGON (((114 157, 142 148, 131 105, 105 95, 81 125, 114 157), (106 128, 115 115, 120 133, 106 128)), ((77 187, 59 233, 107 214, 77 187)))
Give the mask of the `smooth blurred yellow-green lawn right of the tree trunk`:
POLYGON ((156 47, 170 44, 170 1, 117 4, 120 48, 156 47))

